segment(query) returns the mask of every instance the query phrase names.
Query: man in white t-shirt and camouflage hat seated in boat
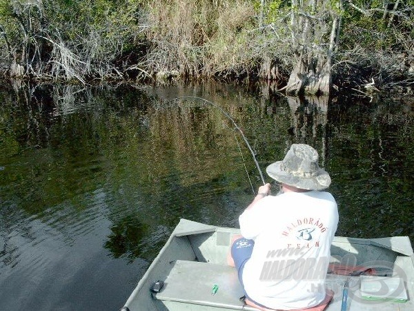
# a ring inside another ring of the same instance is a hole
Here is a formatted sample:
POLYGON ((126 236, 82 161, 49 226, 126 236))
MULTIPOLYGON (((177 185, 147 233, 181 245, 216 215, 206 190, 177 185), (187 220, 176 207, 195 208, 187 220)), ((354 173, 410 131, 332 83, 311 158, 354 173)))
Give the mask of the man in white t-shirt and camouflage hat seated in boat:
POLYGON ((266 172, 281 183, 279 194, 270 195, 270 184, 259 187, 239 216, 242 238, 233 243, 229 263, 237 268, 250 305, 262 310, 323 306, 339 219, 335 199, 322 191, 331 178, 307 144, 293 144, 266 172))

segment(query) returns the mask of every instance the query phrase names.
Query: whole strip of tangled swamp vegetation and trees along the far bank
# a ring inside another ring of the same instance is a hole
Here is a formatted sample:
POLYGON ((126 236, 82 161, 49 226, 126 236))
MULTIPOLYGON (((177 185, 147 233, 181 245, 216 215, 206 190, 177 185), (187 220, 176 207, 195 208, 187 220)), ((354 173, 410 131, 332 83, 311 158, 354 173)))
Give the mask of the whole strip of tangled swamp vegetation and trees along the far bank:
POLYGON ((290 94, 414 83, 413 0, 1 0, 3 77, 263 79, 290 94))

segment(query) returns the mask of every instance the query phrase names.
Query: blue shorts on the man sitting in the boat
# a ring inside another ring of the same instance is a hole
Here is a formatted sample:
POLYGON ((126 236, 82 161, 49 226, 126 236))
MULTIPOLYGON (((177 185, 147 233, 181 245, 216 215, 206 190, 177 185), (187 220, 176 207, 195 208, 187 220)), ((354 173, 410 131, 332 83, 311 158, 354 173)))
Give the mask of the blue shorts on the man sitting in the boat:
POLYGON ((237 269, 237 276, 239 276, 239 282, 242 285, 246 298, 248 298, 250 301, 253 301, 257 305, 259 305, 259 307, 266 308, 264 305, 257 303, 256 301, 251 299, 248 296, 248 294, 246 294, 246 290, 244 290, 244 284, 243 284, 244 265, 250 259, 250 256, 252 256, 253 246, 255 246, 255 241, 248 240, 247 238, 237 238, 237 240, 231 246, 231 256, 233 257, 233 261, 235 262, 235 267, 237 269))

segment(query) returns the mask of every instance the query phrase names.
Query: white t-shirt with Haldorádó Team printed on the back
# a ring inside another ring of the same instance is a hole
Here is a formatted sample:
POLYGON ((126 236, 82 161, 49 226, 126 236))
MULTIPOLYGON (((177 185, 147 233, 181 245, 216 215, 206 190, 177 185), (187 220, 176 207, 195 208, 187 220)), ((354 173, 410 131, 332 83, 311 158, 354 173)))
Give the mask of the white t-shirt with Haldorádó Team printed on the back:
POLYGON ((239 216, 255 241, 243 270, 248 296, 268 308, 311 308, 325 298, 326 272, 339 216, 325 191, 266 196, 239 216))

